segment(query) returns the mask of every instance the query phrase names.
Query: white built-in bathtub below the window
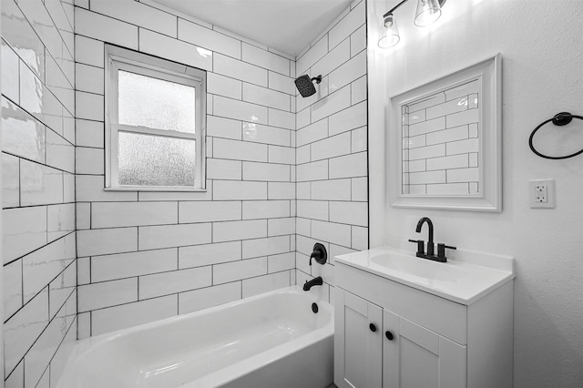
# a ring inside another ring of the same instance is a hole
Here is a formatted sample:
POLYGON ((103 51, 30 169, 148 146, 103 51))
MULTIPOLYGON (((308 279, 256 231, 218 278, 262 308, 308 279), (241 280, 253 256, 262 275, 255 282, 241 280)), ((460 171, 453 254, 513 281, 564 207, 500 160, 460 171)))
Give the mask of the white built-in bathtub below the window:
POLYGON ((323 388, 333 380, 332 309, 292 286, 90 337, 57 387, 323 388))

